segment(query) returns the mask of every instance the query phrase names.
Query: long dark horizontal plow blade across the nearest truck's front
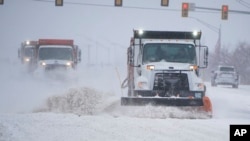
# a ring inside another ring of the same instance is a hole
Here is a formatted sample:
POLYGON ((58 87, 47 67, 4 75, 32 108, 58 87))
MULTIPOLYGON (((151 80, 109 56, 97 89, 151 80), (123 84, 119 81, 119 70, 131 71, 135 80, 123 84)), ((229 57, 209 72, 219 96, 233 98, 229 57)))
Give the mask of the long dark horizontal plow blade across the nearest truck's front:
MULTIPOLYGON (((122 106, 203 106, 201 98, 152 98, 152 97, 122 97, 122 106)), ((209 108, 207 108, 209 110, 209 108)))

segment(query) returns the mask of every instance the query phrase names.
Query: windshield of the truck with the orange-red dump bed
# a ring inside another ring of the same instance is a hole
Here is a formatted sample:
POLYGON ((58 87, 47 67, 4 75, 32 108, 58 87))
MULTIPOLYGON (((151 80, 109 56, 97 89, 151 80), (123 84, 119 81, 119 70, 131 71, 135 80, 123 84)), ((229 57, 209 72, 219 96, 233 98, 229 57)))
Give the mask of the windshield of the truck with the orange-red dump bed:
POLYGON ((72 48, 70 47, 41 47, 39 60, 73 60, 72 48))

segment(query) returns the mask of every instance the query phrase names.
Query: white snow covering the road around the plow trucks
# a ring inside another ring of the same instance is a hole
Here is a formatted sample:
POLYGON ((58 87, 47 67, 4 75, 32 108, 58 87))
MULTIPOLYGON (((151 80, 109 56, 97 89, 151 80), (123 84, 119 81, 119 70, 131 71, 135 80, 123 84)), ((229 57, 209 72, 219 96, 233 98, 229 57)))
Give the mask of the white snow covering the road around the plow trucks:
POLYGON ((121 107, 125 66, 81 64, 78 79, 68 81, 37 78, 8 59, 0 65, 6 66, 0 69, 0 141, 228 141, 230 124, 250 123, 246 85, 207 83, 213 118, 190 119, 174 107, 121 107))

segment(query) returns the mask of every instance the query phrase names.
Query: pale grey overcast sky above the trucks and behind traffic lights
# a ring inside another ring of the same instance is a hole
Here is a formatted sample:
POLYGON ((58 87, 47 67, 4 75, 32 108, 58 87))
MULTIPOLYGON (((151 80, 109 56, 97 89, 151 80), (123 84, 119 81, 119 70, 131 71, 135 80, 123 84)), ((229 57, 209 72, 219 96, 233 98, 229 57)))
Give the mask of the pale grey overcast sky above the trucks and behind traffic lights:
POLYGON ((4 5, 0 5, 0 47, 4 49, 0 55, 10 58, 17 56, 17 49, 24 40, 70 38, 86 54, 91 54, 88 59, 97 58, 100 53, 96 53, 96 48, 99 48, 99 52, 111 56, 108 58, 110 61, 126 54, 132 30, 138 28, 201 30, 202 43, 213 51, 218 33, 204 23, 214 26, 216 30, 221 26, 224 46, 234 48, 239 42, 250 42, 250 15, 229 13, 228 20, 221 20, 220 11, 196 9, 189 12, 189 18, 181 17, 182 2, 218 9, 225 4, 231 10, 250 11, 249 1, 169 1, 169 7, 161 7, 160 0, 123 0, 123 7, 114 7, 114 0, 64 0, 63 7, 55 7, 54 0, 5 0, 4 5))

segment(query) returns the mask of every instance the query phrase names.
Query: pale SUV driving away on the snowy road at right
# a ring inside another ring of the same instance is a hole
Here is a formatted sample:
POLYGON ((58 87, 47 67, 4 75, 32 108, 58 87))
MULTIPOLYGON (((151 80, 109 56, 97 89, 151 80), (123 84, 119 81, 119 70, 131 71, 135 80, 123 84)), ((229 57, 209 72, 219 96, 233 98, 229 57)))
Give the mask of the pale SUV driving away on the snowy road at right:
POLYGON ((212 71, 211 85, 232 85, 233 88, 239 86, 239 74, 234 66, 218 66, 217 70, 212 71))

